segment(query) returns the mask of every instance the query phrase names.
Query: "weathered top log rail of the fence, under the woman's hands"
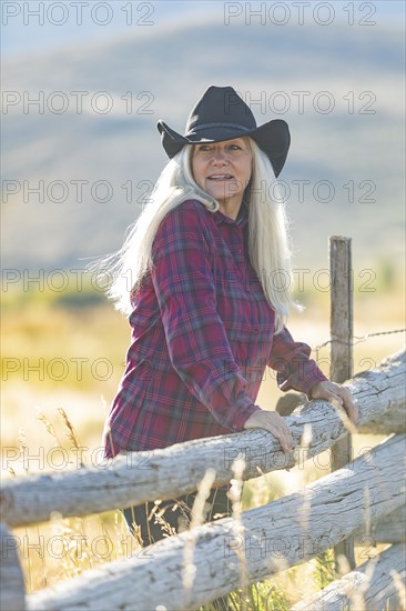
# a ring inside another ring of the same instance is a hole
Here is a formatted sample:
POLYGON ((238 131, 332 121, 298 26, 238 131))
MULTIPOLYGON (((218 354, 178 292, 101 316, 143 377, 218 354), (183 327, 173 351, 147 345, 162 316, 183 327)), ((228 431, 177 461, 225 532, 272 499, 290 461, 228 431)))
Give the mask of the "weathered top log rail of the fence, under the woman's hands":
MULTIPOLYGON (((358 401, 359 431, 374 430, 378 423, 387 433, 405 430, 405 352, 400 352, 348 382, 358 401)), ((62 517, 88 515, 171 499, 195 490, 209 468, 216 471, 215 485, 223 485, 233 478, 236 458, 244 458, 247 480, 258 477, 258 468, 265 473, 290 469, 332 448, 347 432, 337 410, 321 400, 300 407, 286 421, 294 440, 291 454, 283 453, 271 433, 256 429, 132 452, 110 464, 78 471, 10 479, 0 497, 2 520, 17 527, 47 521, 53 511, 62 517), (311 432, 305 444, 304 431, 311 432)))

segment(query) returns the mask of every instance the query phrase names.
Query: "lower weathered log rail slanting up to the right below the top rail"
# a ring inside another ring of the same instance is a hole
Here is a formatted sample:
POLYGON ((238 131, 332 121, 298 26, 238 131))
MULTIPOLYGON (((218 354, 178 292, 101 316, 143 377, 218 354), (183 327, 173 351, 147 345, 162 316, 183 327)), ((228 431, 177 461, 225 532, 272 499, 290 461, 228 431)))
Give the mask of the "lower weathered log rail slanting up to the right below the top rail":
MULTIPOLYGON (((297 492, 152 545, 142 555, 102 565, 27 598, 28 611, 196 609, 241 584, 305 562, 405 501, 400 457, 405 435, 395 435, 371 457, 297 492), (394 461, 394 457, 398 460, 394 461), (367 499, 369 501, 367 502, 367 499), (193 589, 185 591, 184 552, 193 547, 193 589)), ((358 611, 358 610, 357 610, 358 611)))

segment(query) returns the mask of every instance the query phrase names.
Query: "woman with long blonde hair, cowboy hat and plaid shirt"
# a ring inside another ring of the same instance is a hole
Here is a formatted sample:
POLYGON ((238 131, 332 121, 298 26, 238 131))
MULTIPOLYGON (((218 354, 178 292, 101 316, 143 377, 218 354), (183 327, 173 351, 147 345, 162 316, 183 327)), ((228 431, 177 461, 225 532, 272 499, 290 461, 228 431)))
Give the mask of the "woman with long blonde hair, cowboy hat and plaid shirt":
MULTIPOLYGON (((290 252, 270 189, 290 147, 285 121, 257 128, 234 89, 210 87, 185 136, 163 121, 158 128, 170 162, 113 266, 110 294, 130 315, 132 342, 106 420, 106 457, 251 428, 290 452, 285 420, 255 404, 266 365, 282 390, 335 400, 355 421, 348 390, 329 382, 285 328, 290 252)), ((160 505, 171 529, 193 499, 160 505)), ((209 501, 209 518, 227 513, 225 490, 209 501)), ((144 544, 165 532, 154 509, 125 511, 144 544)))

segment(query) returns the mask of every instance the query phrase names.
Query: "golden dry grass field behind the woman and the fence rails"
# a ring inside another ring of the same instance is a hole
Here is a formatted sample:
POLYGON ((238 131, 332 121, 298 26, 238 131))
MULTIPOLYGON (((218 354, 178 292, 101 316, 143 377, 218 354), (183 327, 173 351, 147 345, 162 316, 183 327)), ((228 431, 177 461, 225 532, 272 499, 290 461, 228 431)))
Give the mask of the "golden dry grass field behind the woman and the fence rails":
MULTIPOLYGON (((367 334, 404 328, 404 291, 397 270, 380 270, 373 291, 355 286, 354 372, 372 369, 399 350, 402 333, 367 334)), ((292 315, 290 329, 308 342, 328 373, 328 292, 297 293, 306 306, 292 315), (317 349, 317 347, 319 347, 317 349)), ((39 470, 75 469, 100 459, 106 409, 120 381, 129 342, 126 321, 91 288, 80 292, 7 292, 2 314, 2 475, 39 470), (55 451, 59 449, 59 451, 55 451), (26 462, 21 458, 29 457, 26 462), (52 457, 52 460, 50 460, 52 457)), ((282 394, 267 372, 258 404, 273 409, 282 394)), ((354 453, 379 441, 355 435, 354 453)), ((318 467, 275 472, 245 485, 244 508, 288 494, 327 473, 328 455, 318 467)), ((125 555, 128 534, 119 512, 85 519, 58 520, 30 529, 16 529, 27 590, 35 591, 79 574, 101 562, 125 555), (79 538, 84 542, 78 547, 79 538)), ((377 550, 374 550, 376 552, 377 550)), ((358 562, 366 551, 357 548, 358 562)), ((267 585, 273 607, 286 609, 311 589, 333 579, 331 554, 282 573, 267 585)), ((262 589, 262 590, 261 590, 262 589)), ((260 595, 260 594, 258 594, 260 595)), ((256 600, 256 599, 255 599, 256 600)), ((255 603, 256 604, 256 603, 255 603)), ((240 607, 236 607, 240 609, 240 607)), ((260 603, 253 607, 265 609, 260 603)))

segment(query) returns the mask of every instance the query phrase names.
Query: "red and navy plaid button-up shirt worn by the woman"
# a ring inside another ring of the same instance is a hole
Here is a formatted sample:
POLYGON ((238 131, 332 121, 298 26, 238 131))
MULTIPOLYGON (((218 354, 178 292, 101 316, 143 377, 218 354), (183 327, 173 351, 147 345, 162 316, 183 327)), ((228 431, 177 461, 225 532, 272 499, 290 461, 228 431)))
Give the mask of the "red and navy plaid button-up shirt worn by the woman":
POLYGON ((105 429, 106 457, 243 430, 268 365, 282 390, 326 380, 311 349, 274 334, 236 220, 187 200, 156 232, 154 266, 133 296, 132 343, 105 429))

